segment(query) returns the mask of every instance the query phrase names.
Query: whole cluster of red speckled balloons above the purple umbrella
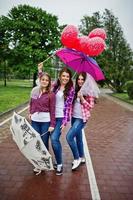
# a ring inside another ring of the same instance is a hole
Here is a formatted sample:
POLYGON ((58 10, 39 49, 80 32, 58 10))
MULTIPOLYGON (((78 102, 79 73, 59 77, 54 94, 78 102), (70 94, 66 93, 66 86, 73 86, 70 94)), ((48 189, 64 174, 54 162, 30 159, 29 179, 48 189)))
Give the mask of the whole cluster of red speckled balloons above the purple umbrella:
POLYGON ((98 56, 105 47, 106 32, 102 28, 93 29, 88 36, 78 36, 79 30, 73 25, 67 25, 61 34, 64 46, 81 51, 89 56, 98 56))

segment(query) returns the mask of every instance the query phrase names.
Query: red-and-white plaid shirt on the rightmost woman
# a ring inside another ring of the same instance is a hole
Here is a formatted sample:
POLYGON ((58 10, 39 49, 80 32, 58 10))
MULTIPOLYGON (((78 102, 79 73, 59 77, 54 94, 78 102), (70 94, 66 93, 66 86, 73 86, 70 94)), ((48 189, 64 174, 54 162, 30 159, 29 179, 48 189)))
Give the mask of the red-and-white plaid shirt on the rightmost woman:
POLYGON ((81 110, 83 115, 83 122, 87 122, 90 117, 90 110, 94 107, 94 97, 87 96, 81 103, 81 110))

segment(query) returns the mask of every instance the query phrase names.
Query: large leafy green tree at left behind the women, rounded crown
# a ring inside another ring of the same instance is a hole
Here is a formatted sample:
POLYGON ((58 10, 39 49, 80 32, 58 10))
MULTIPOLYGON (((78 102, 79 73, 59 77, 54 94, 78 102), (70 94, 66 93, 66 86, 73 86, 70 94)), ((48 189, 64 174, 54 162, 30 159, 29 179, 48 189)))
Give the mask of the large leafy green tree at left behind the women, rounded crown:
POLYGON ((35 85, 37 63, 60 46, 58 18, 42 9, 19 5, 3 17, 2 24, 11 48, 10 66, 32 71, 35 85))

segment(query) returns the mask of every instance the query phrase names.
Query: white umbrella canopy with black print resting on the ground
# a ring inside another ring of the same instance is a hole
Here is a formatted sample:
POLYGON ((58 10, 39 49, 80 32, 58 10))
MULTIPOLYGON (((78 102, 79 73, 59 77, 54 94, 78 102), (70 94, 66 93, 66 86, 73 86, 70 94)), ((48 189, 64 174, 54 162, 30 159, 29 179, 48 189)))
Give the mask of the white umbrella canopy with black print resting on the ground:
POLYGON ((24 117, 14 112, 10 130, 18 148, 35 168, 40 171, 53 170, 52 156, 45 147, 40 134, 24 117))

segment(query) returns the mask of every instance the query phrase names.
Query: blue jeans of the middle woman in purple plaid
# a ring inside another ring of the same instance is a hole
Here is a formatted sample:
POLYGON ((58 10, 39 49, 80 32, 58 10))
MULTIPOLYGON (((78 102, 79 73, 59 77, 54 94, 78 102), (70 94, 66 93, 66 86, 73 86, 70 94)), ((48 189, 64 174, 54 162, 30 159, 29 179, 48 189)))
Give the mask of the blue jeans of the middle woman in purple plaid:
POLYGON ((62 164, 62 146, 60 142, 61 136, 61 125, 62 125, 63 118, 56 118, 56 126, 54 131, 51 134, 51 144, 54 151, 55 159, 57 164, 62 164))

